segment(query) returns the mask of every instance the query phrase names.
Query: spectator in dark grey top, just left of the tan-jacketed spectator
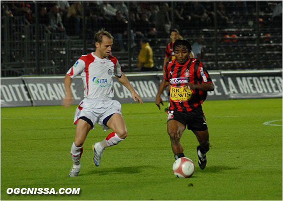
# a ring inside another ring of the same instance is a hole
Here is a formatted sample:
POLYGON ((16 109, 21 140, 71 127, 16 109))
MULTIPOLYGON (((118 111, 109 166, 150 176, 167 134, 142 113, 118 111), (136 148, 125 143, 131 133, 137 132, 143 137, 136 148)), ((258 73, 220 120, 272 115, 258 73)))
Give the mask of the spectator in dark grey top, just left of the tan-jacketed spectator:
POLYGON ((52 32, 65 32, 61 16, 59 14, 59 7, 55 5, 48 14, 49 24, 48 27, 52 32))

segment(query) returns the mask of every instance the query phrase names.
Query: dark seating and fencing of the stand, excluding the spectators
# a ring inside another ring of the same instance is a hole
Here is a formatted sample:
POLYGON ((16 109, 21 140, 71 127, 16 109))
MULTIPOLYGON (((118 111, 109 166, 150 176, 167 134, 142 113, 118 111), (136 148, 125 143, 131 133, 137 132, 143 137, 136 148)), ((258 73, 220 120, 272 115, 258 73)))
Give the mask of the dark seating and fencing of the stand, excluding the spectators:
MULTIPOLYGON (((120 2, 117 2, 120 3, 120 2)), ((245 69, 281 69, 282 68, 282 11, 278 12, 275 1, 226 1, 221 2, 221 16, 217 3, 202 1, 207 18, 193 24, 190 12, 194 2, 168 2, 171 28, 178 28, 180 35, 192 44, 200 35, 204 36, 204 65, 208 70, 245 70, 245 69), (214 10, 214 6, 216 6, 214 10), (276 12, 275 12, 276 8, 276 12), (175 15, 178 10, 178 18, 175 15), (217 11, 215 15, 214 11, 217 11), (185 16, 185 24, 175 21, 185 16), (225 19, 225 22, 218 20, 225 19), (215 21, 216 19, 216 21, 215 21), (200 26, 193 26, 200 24, 200 26)), ((57 75, 64 74, 76 59, 94 50, 93 33, 105 27, 111 32, 112 17, 101 11, 103 5, 98 2, 82 2, 85 9, 85 21, 81 20, 81 33, 52 33, 46 24, 37 24, 37 13, 46 7, 49 13, 56 4, 50 2, 28 2, 14 5, 1 2, 1 76, 57 75), (97 15, 96 15, 97 14, 97 15), (96 21, 93 21, 96 20, 96 21), (83 22, 86 22, 84 24, 83 22), (102 22, 105 22, 103 24, 102 22)), ((70 6, 73 2, 69 1, 70 6)), ((109 3, 115 8, 115 4, 109 3)), ((162 70, 165 46, 169 36, 164 36, 155 27, 156 22, 147 24, 151 29, 147 33, 136 30, 142 14, 155 19, 152 7, 161 8, 164 2, 124 2, 129 16, 127 31, 123 34, 125 51, 114 51, 123 67, 123 71, 137 71, 137 56, 140 50, 138 36, 142 34, 150 39, 153 49, 154 66, 162 70), (151 16, 152 13, 152 16, 151 16), (156 29, 155 29, 156 28, 156 29), (152 37, 154 36, 154 37, 152 37), (157 36, 157 38, 156 38, 157 36), (134 43, 133 39, 134 38, 134 43), (131 41, 132 40, 132 41, 131 41), (131 42, 128 42, 131 41, 131 42), (135 45, 133 45, 135 44, 135 45)), ((115 8, 116 9, 116 8, 115 8)), ((156 16, 155 16, 156 17, 156 16)), ((64 22, 64 17, 63 24, 64 22)), ((146 19, 146 20, 148 20, 146 19)), ((64 24, 65 26, 65 24, 64 24)))

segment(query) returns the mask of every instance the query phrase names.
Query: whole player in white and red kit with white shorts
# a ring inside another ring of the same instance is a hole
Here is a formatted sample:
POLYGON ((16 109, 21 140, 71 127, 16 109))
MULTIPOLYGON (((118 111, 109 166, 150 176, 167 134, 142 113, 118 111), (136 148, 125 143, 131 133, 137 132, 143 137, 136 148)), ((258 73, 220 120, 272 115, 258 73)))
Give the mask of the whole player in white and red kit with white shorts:
POLYGON ((87 133, 98 123, 104 130, 112 129, 105 140, 92 145, 93 163, 100 165, 101 154, 106 147, 117 145, 127 137, 127 128, 121 113, 121 104, 113 100, 113 75, 126 86, 133 99, 143 104, 141 97, 131 86, 128 78, 122 72, 118 60, 111 56, 113 36, 101 29, 95 34, 96 51, 82 55, 65 75, 66 95, 63 105, 69 107, 73 101, 71 80, 80 74, 84 84, 84 99, 76 109, 74 124, 75 141, 71 146, 73 167, 69 176, 77 176, 80 171, 82 145, 87 133))

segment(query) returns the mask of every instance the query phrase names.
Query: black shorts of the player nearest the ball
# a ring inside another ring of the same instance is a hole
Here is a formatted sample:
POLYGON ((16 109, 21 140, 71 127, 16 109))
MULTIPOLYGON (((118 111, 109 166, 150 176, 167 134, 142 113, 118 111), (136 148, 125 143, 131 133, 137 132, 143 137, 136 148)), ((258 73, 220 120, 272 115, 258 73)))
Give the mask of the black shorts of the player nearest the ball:
POLYGON ((192 131, 205 131, 208 129, 202 107, 191 112, 167 111, 167 122, 170 120, 176 120, 192 131))

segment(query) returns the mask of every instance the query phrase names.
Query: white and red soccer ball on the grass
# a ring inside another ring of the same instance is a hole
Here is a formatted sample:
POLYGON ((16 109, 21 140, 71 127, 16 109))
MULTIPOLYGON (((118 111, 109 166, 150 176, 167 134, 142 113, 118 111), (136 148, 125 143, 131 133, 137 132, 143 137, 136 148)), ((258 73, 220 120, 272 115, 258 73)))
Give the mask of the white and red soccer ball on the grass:
POLYGON ((173 163, 173 172, 178 178, 191 177, 195 172, 195 164, 190 158, 178 158, 173 163))

